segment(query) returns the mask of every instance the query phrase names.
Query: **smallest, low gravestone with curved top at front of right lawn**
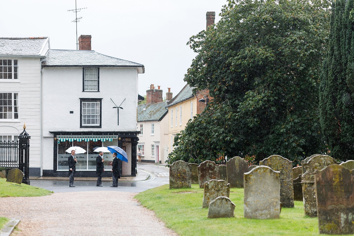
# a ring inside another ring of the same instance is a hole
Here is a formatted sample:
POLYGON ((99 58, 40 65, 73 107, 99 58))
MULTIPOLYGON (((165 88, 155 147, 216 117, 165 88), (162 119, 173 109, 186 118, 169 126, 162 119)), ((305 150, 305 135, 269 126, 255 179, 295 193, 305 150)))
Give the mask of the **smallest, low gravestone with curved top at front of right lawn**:
POLYGON ((235 203, 230 198, 220 196, 209 204, 208 218, 230 218, 234 217, 235 203))

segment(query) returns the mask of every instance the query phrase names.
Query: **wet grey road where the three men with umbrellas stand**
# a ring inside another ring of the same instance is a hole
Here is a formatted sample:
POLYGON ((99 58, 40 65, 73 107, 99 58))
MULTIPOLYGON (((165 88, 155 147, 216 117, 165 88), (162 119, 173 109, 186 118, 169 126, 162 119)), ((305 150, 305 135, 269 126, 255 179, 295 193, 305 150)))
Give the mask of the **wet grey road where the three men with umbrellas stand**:
POLYGON ((138 173, 149 175, 143 181, 118 181, 118 188, 110 187, 112 182, 103 182, 103 187, 96 187, 96 181, 74 181, 75 188, 69 188, 68 181, 31 180, 31 185, 53 192, 79 192, 79 191, 124 191, 143 192, 161 185, 169 184, 169 168, 159 165, 138 165, 138 173))

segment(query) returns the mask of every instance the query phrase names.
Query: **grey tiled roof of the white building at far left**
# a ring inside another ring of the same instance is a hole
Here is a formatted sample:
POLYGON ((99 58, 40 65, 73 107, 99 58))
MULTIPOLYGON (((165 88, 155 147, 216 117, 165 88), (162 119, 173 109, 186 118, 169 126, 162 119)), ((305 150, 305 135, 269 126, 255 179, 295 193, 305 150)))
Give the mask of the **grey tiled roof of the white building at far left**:
POLYGON ((0 38, 0 55, 40 56, 47 38, 0 38))

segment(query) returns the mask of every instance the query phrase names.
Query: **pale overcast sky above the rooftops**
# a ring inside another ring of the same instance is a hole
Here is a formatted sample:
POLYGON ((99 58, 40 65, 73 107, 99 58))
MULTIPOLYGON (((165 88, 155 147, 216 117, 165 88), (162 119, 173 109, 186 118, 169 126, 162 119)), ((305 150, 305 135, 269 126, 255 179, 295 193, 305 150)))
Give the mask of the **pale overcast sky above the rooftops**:
MULTIPOLYGON (((226 0, 77 0, 78 36, 92 35, 92 50, 145 66, 139 94, 150 84, 173 97, 196 54, 189 37, 206 28, 206 12, 215 23, 226 0)), ((76 50, 75 0, 1 1, 0 37, 50 38, 51 49, 76 50)), ((124 88, 122 88, 124 89, 124 88)))

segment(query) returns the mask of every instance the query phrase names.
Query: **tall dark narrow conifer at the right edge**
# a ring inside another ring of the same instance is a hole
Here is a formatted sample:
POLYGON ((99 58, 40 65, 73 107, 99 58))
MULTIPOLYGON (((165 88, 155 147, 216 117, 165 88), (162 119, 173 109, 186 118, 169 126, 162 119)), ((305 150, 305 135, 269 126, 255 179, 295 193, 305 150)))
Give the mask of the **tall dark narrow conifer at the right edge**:
POLYGON ((330 155, 354 156, 354 21, 353 0, 332 4, 329 51, 320 85, 320 116, 330 155))

